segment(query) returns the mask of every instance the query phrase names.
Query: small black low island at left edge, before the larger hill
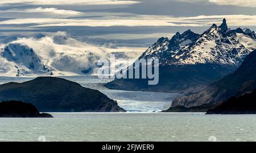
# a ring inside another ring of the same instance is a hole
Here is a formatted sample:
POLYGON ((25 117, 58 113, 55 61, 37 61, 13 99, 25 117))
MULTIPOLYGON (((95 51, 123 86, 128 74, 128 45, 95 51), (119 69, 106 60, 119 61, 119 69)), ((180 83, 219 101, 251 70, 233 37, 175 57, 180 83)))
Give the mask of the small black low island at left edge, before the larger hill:
POLYGON ((0 117, 2 118, 53 118, 47 113, 39 113, 32 104, 21 101, 5 101, 0 103, 0 117))

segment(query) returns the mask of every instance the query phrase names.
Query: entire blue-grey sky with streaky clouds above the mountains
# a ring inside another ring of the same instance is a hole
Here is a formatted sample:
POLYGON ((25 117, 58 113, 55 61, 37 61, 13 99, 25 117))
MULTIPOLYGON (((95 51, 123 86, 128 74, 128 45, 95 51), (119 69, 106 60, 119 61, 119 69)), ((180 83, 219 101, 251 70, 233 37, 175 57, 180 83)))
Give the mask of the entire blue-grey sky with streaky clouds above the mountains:
POLYGON ((256 31, 255 0, 1 0, 0 40, 51 32, 97 46, 147 48, 188 29, 202 33, 226 18, 256 31))

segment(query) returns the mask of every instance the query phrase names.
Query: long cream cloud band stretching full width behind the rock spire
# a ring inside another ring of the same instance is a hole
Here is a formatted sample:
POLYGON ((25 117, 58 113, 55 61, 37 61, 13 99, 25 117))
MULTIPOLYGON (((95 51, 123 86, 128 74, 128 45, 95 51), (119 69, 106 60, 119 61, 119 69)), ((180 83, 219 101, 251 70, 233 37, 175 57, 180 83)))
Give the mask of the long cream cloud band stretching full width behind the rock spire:
POLYGON ((229 26, 255 26, 256 15, 200 15, 177 17, 166 15, 133 15, 133 16, 104 16, 92 19, 60 19, 60 18, 24 18, 0 21, 0 25, 32 24, 30 27, 62 27, 62 26, 189 26, 202 27, 219 24, 226 18, 229 26))

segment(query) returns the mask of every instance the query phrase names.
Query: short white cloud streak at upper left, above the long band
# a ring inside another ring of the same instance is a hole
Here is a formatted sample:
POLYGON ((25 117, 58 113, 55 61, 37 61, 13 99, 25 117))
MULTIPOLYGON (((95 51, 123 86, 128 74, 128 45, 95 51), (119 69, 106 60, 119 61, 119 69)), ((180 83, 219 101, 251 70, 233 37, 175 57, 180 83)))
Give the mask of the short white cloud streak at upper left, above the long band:
MULTIPOLYGON (((1 10, 0 13, 43 13, 43 14, 56 14, 61 16, 79 16, 82 15, 79 11, 73 11, 73 10, 60 10, 57 8, 43 8, 38 7, 35 9, 11 9, 11 10, 1 10)), ((19 16, 19 14, 14 14, 15 16, 19 16)), ((32 14, 34 15, 34 14, 32 14)))

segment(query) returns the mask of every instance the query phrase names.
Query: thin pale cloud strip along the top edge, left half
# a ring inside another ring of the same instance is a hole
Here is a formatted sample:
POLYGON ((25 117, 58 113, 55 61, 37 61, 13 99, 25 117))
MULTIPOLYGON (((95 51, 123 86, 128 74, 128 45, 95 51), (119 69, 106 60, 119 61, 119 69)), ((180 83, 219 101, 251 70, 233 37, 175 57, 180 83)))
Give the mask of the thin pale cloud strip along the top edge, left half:
POLYGON ((1 0, 0 5, 27 4, 27 5, 131 5, 138 1, 125 0, 1 0))

